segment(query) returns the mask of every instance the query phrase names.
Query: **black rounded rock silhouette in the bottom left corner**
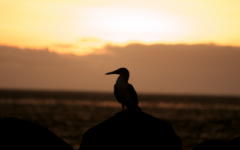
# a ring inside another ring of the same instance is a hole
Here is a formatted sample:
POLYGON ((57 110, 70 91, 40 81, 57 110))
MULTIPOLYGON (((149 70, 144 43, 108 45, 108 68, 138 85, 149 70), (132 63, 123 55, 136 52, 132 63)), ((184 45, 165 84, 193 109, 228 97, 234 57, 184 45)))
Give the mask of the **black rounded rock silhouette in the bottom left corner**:
POLYGON ((17 118, 0 119, 1 150, 73 150, 50 130, 17 118))

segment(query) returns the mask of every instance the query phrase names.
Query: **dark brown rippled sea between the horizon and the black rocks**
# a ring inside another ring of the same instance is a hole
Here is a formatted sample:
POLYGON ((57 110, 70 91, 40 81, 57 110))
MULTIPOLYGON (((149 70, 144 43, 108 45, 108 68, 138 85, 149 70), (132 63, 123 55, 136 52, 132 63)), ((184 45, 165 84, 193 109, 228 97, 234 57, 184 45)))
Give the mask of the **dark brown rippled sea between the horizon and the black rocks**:
MULTIPOLYGON (((240 98, 139 95, 142 110, 171 124, 183 150, 240 136, 240 98)), ((0 91, 0 118, 40 124, 78 149, 83 134, 121 111, 113 94, 0 91)))

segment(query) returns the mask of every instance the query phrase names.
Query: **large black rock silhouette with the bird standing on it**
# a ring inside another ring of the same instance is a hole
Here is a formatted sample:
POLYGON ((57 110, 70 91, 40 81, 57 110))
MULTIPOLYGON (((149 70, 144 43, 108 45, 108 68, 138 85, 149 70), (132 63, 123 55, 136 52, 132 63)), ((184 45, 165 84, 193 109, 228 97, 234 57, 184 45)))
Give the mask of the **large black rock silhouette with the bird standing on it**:
POLYGON ((180 150, 181 146, 167 122, 142 111, 125 110, 89 129, 79 150, 180 150))

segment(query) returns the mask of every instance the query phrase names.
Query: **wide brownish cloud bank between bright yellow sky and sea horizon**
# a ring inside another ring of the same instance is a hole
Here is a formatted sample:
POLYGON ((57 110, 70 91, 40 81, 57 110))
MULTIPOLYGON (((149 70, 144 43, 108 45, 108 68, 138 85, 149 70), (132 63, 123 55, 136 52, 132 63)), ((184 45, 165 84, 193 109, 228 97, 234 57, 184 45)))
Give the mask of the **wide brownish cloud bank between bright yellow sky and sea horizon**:
POLYGON ((130 70, 138 92, 240 95, 240 48, 198 45, 106 45, 106 53, 76 56, 0 46, 0 88, 112 91, 130 70))

